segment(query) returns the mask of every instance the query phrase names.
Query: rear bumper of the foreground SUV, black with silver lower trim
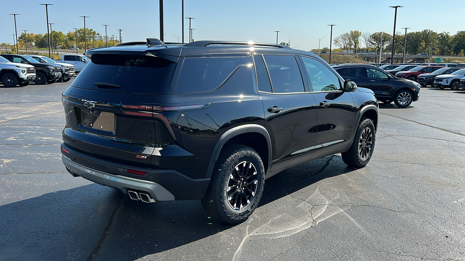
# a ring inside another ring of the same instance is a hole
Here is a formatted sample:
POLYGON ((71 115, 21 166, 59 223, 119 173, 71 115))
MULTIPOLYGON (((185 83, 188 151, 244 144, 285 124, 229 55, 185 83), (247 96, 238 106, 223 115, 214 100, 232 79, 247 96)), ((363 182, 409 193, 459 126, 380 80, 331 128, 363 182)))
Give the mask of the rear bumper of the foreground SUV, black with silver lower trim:
POLYGON ((205 196, 210 178, 191 179, 174 170, 153 170, 95 158, 61 144, 62 161, 74 174, 94 183, 120 189, 145 191, 155 201, 201 199, 205 196), (130 174, 126 169, 146 172, 130 174), (144 179, 141 179, 141 178, 144 179), (148 179, 148 180, 146 180, 148 179))

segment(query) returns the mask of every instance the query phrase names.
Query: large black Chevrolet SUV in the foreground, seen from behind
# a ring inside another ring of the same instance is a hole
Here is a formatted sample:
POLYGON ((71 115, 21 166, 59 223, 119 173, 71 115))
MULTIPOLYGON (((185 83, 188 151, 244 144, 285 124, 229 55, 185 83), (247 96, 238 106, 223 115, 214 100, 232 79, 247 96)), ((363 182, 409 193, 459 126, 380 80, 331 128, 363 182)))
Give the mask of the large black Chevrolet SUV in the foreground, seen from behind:
POLYGON ((282 170, 339 152, 353 167, 372 157, 373 92, 310 52, 147 39, 86 55, 62 96, 62 160, 133 200, 201 199, 214 218, 239 223, 282 170))

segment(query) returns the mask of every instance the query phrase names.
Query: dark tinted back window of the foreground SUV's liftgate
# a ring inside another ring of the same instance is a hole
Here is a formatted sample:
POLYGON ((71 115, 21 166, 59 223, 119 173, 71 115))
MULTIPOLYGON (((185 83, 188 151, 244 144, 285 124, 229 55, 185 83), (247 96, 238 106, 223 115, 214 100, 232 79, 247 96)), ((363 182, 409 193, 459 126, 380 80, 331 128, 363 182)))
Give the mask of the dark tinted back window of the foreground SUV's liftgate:
POLYGON ((72 86, 127 93, 159 94, 171 61, 146 55, 93 54, 72 86), (95 83, 107 83, 100 88, 95 83), (112 87, 117 85, 119 87, 112 87))

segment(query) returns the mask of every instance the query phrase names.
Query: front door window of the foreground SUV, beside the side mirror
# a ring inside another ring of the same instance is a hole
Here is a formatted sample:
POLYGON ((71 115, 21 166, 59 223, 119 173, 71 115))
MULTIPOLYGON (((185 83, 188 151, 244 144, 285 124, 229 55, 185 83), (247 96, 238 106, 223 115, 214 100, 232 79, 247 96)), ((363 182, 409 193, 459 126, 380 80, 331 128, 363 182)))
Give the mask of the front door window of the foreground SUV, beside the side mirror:
POLYGON ((336 91, 341 88, 339 77, 334 74, 326 65, 316 59, 302 57, 305 68, 310 77, 313 91, 336 91))

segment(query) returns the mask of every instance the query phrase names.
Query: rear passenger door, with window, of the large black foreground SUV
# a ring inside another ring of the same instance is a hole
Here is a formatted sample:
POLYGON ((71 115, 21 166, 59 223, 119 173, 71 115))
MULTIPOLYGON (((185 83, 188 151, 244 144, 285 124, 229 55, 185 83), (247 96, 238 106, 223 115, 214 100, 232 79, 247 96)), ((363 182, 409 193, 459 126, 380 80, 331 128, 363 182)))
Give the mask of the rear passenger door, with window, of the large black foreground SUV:
POLYGON ((272 138, 271 172, 309 160, 315 153, 317 104, 305 90, 296 57, 273 54, 253 59, 265 127, 272 138))

